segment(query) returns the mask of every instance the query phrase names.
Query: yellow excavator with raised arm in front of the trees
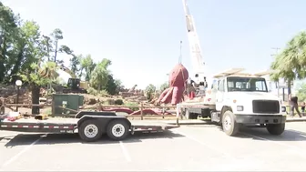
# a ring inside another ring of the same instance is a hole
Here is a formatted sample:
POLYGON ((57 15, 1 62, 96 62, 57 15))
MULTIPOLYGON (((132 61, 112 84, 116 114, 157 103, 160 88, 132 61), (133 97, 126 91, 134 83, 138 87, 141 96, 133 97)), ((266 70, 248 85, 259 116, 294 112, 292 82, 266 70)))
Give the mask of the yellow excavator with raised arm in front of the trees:
POLYGON ((89 83, 76 78, 76 75, 66 66, 60 66, 60 69, 69 74, 67 87, 63 89, 63 93, 87 93, 89 83))

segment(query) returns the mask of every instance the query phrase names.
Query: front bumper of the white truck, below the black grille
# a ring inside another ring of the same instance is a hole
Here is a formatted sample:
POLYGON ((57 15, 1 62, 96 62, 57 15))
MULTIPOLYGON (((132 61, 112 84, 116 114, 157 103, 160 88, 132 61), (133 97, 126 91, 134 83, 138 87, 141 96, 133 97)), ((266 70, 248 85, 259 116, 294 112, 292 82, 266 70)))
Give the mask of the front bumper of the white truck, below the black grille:
POLYGON ((242 124, 282 124, 286 123, 286 116, 236 115, 236 122, 242 124))

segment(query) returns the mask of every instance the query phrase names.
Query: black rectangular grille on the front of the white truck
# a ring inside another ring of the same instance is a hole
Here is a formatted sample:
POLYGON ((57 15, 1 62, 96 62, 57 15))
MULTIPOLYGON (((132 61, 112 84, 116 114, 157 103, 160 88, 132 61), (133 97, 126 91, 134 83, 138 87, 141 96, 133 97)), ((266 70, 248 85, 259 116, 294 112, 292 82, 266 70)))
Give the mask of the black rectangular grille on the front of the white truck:
POLYGON ((275 100, 253 100, 253 113, 278 114, 278 113, 280 113, 279 101, 275 101, 275 100))

